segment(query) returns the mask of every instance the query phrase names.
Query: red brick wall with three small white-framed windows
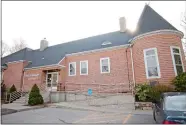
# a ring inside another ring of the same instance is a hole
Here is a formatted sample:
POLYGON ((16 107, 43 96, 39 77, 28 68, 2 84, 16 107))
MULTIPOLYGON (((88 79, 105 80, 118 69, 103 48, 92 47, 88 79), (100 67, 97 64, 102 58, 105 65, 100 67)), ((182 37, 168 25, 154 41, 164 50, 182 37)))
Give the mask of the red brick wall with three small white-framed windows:
MULTIPOLYGON (((128 68, 129 68, 129 79, 132 81, 132 70, 131 70, 131 57, 130 49, 127 52, 128 57, 128 68)), ((85 91, 88 87, 98 87, 98 85, 93 84, 125 84, 124 90, 128 91, 129 81, 128 81, 128 69, 127 69, 127 59, 126 59, 126 48, 120 48, 117 50, 109 50, 104 52, 94 52, 84 55, 73 55, 66 57, 61 64, 65 63, 65 76, 66 76, 66 89, 70 87, 80 88, 80 85, 74 84, 86 84, 83 86, 85 91), (100 73, 100 58, 109 57, 110 58, 110 73, 101 74, 100 73), (88 60, 88 75, 80 75, 80 61, 88 60), (76 76, 68 76, 69 74, 69 63, 76 62, 76 76)), ((103 86, 102 86, 103 88, 103 86)), ((109 86, 105 88, 111 89, 109 86)))

